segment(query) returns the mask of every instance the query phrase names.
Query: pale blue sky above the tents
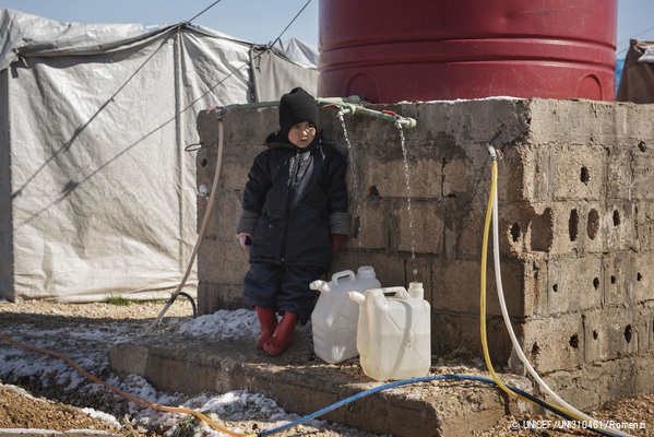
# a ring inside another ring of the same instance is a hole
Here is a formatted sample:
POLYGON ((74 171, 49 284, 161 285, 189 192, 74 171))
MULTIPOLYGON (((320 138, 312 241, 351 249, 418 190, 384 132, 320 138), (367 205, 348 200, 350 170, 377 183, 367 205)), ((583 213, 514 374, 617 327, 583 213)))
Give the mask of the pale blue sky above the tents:
MULTIPOLYGON (((1 8, 83 24, 174 24, 188 21, 216 0, 0 0, 1 8)), ((319 0, 218 0, 192 22, 251 43, 282 42, 296 37, 318 47, 319 0)), ((654 1, 618 0, 618 58, 623 58, 629 39, 654 40, 654 1)))

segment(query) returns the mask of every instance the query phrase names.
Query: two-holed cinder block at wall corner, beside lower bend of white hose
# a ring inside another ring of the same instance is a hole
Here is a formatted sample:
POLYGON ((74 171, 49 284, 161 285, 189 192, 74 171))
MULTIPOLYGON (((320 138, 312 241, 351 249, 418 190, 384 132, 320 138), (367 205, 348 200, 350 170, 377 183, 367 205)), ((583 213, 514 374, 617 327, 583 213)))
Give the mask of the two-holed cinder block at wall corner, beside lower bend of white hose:
POLYGON ((523 323, 523 352, 538 373, 572 369, 584 362, 580 314, 530 319, 523 323))

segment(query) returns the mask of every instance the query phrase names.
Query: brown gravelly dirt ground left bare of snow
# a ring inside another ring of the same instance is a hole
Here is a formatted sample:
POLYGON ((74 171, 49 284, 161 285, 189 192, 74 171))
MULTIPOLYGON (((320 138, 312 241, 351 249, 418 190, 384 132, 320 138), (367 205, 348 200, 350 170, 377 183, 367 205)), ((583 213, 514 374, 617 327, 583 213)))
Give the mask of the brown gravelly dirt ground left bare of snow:
MULTIPOLYGON (((152 320, 159 314, 163 303, 142 303, 129 306, 117 306, 108 304, 53 304, 46 302, 25 302, 22 304, 12 304, 0 302, 0 334, 14 332, 16 326, 29 323, 31 318, 38 320, 38 329, 45 331, 57 331, 61 329, 79 328, 81 320, 84 323, 93 323, 96 320, 98 324, 108 326, 107 321, 112 320, 129 326, 131 330, 144 330, 152 320), (50 315, 52 317, 36 317, 50 315), (49 320, 51 326, 43 326, 44 320, 49 320)), ((189 318, 188 303, 176 302, 166 314, 164 323, 167 320, 178 320, 189 318)), ((109 328, 107 328, 109 329, 109 328)), ((110 329, 109 329, 110 330, 110 329)), ((59 336, 62 350, 75 347, 70 338, 59 336)), ((56 344, 57 342, 55 342, 56 344)), ((98 347, 108 351, 110 344, 100 344, 94 341, 94 345, 84 344, 83 347, 98 347)), ((13 347, 0 338, 0 350, 13 347)), ((79 346, 78 346, 79 347, 79 346)), ((50 349, 56 349, 51 346, 50 349)), ((109 378, 109 369, 95 370, 99 378, 109 378)), ((43 387, 38 381, 31 378, 19 378, 20 380, 7 380, 8 377, 0 371, 0 429, 1 428, 28 428, 28 429, 50 429, 66 432, 70 429, 95 429, 104 430, 114 436, 194 436, 187 432, 183 434, 178 426, 175 430, 169 427, 150 427, 146 423, 138 422, 130 416, 130 409, 127 402, 117 401, 115 397, 106 394, 96 394, 75 398, 70 390, 63 387, 49 386, 43 387), (5 379, 5 380, 3 380, 5 379), (105 412, 116 417, 120 425, 94 417, 87 414, 84 409, 91 408, 95 411, 105 412)), ((625 429, 627 433, 637 436, 654 436, 654 395, 623 399, 603 405, 596 411, 588 412, 595 418, 603 421, 628 422, 631 424, 643 425, 644 429, 625 429)), ((572 430, 556 430, 554 425, 545 425, 540 429, 527 429, 524 425, 527 421, 535 421, 544 417, 506 416, 492 429, 474 433, 476 437, 489 436, 568 436, 568 435, 596 435, 587 429, 576 428, 572 430)), ((532 422, 533 423, 533 422, 532 422)), ((241 428, 251 429, 255 433, 250 421, 243 421, 241 428)), ((213 434, 215 435, 215 434, 213 434)), ((328 426, 325 429, 306 428, 292 429, 277 434, 280 436, 320 436, 320 437, 362 437, 370 434, 359 433, 340 426, 328 426)))

